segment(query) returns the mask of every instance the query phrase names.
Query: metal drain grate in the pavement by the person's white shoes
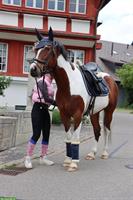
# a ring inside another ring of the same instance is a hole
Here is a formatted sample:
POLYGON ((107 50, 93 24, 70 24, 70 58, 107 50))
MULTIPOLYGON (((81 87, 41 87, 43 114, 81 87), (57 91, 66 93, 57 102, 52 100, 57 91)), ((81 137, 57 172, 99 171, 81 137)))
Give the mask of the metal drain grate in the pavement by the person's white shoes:
POLYGON ((20 173, 24 173, 30 169, 26 169, 25 167, 6 167, 0 169, 0 174, 9 175, 9 176, 16 176, 20 173))

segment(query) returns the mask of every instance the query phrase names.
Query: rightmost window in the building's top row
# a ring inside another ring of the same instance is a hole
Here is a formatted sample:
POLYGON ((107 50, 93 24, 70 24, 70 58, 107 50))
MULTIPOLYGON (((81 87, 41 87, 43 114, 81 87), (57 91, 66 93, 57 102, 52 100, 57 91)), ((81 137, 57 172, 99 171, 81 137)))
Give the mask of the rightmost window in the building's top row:
POLYGON ((86 13, 86 0, 70 0, 69 11, 73 13, 86 13))

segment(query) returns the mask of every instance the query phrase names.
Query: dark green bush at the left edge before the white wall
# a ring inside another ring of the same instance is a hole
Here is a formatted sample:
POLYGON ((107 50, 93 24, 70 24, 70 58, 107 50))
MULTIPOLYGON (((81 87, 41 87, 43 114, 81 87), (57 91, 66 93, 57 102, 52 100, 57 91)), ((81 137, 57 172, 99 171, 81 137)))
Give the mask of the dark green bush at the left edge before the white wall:
POLYGON ((11 78, 0 76, 0 95, 4 96, 4 90, 10 85, 11 78))

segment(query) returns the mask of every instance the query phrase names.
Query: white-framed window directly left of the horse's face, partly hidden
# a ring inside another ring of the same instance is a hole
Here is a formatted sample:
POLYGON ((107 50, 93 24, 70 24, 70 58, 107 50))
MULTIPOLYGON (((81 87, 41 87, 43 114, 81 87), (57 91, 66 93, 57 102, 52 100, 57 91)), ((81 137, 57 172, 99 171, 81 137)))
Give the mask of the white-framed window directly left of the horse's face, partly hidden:
POLYGON ((24 66, 23 72, 28 73, 30 69, 30 60, 34 57, 33 46, 32 45, 25 45, 24 46, 24 66))

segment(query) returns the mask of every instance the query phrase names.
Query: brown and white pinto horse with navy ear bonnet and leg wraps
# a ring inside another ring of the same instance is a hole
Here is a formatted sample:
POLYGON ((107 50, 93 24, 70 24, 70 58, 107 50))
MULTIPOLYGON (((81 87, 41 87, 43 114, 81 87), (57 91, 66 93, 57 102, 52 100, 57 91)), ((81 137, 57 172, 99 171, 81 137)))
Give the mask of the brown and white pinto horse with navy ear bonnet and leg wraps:
MULTIPOLYGON (((66 59, 64 46, 53 38, 50 28, 48 38, 37 31, 38 43, 35 45, 36 56, 30 66, 33 77, 51 73, 57 84, 56 103, 66 132, 66 158, 64 166, 68 171, 78 169, 79 143, 82 117, 86 112, 91 96, 88 95, 80 70, 66 59), (72 127, 73 129, 72 129, 72 127)), ((111 132, 112 115, 117 105, 118 88, 115 81, 106 73, 100 73, 109 88, 109 95, 95 99, 93 113, 90 114, 95 135, 95 145, 86 159, 95 159, 101 127, 100 111, 104 111, 104 148, 102 158, 108 158, 108 138, 111 132)))

